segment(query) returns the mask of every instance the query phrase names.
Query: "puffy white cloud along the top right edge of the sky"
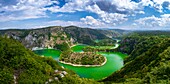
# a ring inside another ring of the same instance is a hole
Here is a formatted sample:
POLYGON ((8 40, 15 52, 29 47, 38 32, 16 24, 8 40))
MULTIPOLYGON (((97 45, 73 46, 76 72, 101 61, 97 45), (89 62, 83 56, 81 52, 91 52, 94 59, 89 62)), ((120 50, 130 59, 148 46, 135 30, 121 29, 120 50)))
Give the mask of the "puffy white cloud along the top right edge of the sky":
MULTIPOLYGON (((144 10, 145 6, 150 6, 156 8, 158 12, 163 12, 163 3, 169 2, 170 0, 141 0, 139 3, 133 2, 131 0, 111 0, 112 4, 116 5, 119 10, 128 10, 132 13, 135 11, 142 11, 144 10)), ((170 6, 168 7, 170 9, 170 6)), ((135 12, 140 13, 140 12, 135 12)))

